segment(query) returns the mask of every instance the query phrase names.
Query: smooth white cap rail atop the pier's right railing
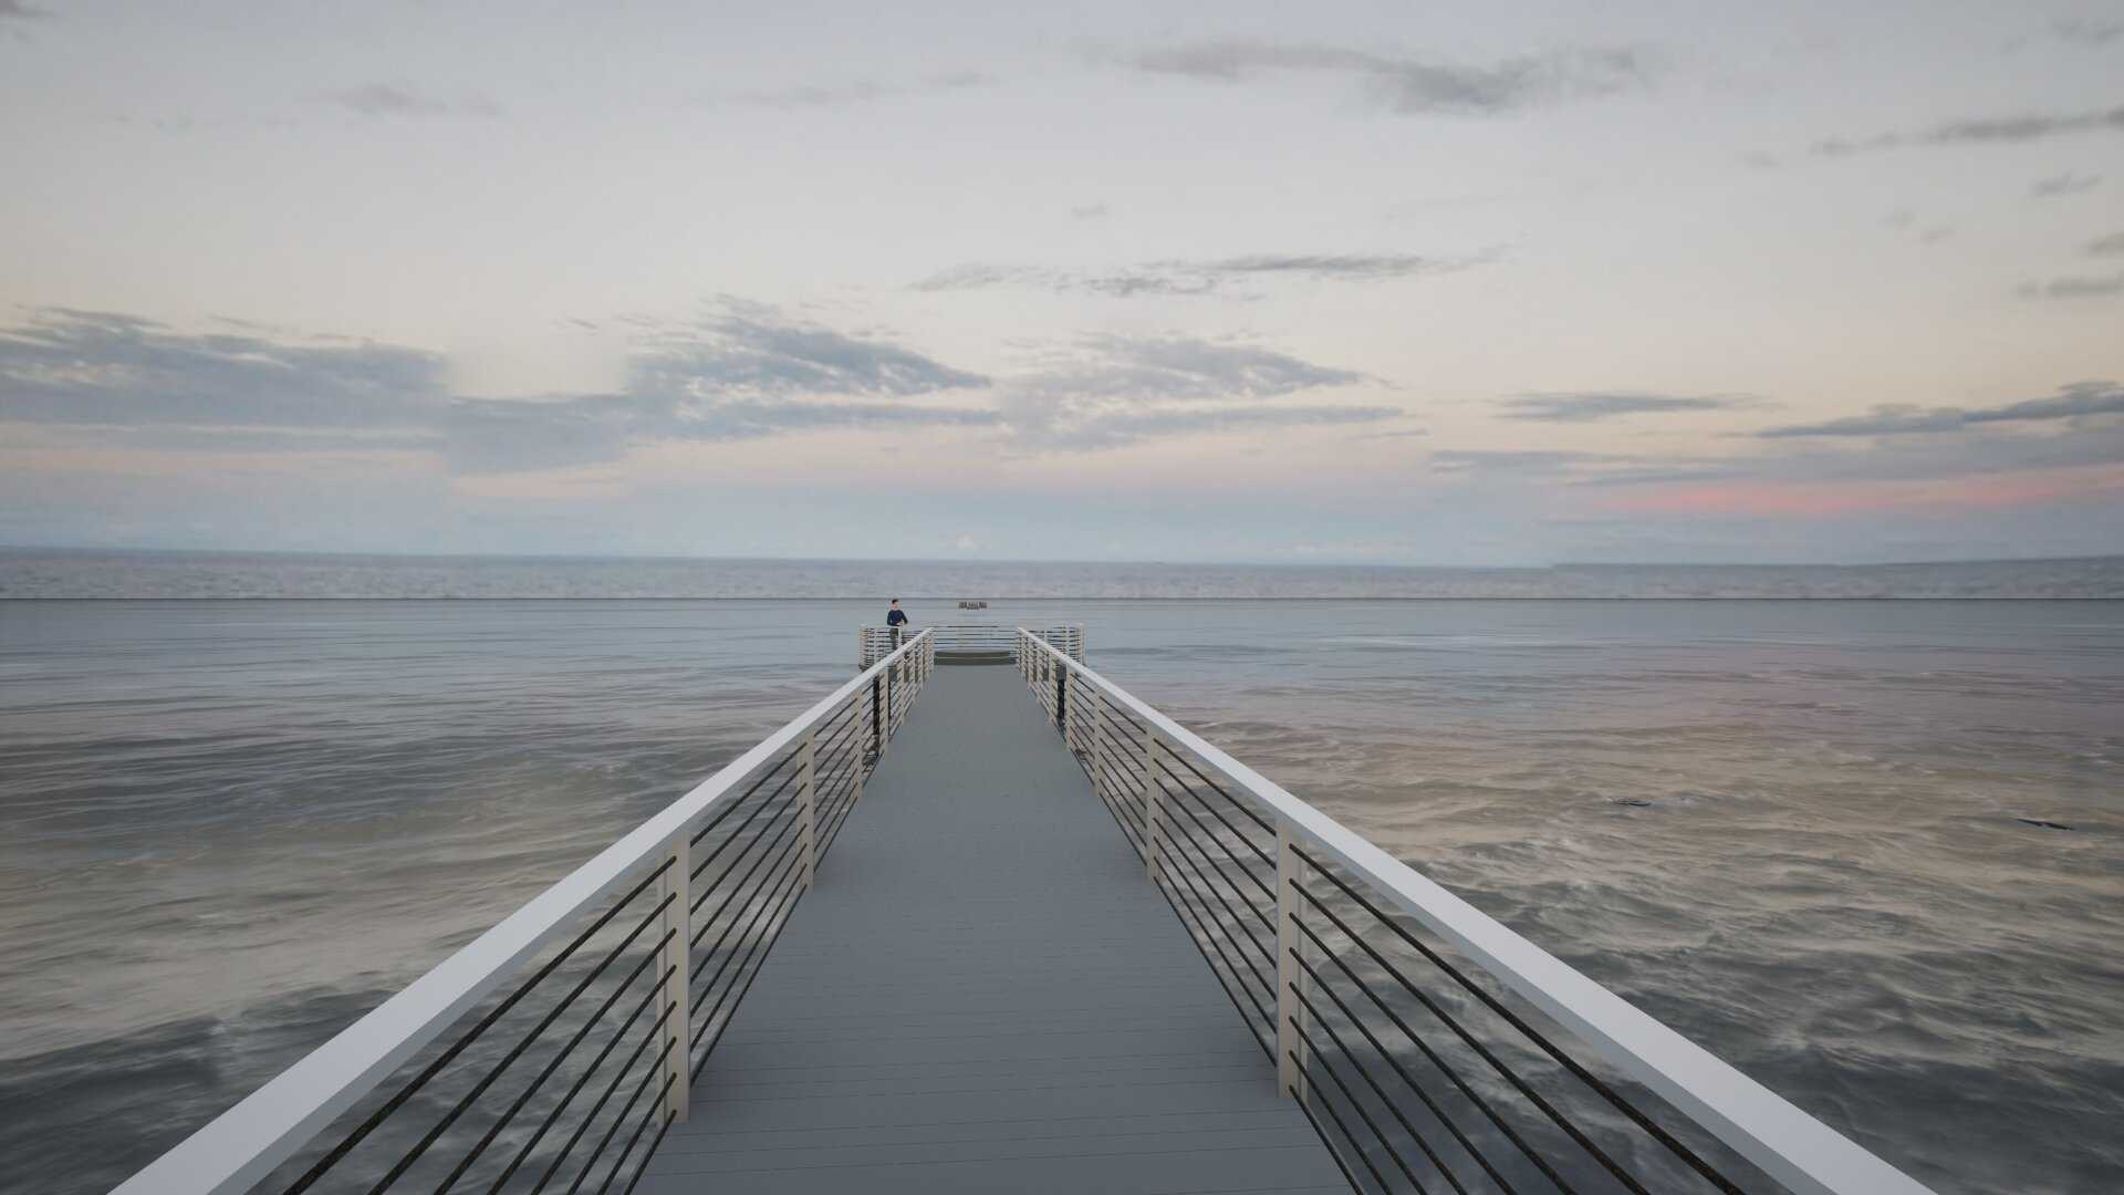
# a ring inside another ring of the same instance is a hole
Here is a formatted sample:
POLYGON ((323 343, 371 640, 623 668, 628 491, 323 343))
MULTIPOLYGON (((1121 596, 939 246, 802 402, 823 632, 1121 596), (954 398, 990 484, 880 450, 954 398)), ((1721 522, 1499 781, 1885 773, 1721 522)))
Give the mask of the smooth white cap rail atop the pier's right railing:
POLYGON ((1039 634, 1020 634, 1177 746, 1268 806, 1302 840, 1361 876, 1398 908, 1457 946, 1508 989, 1657 1091, 1765 1174, 1803 1195, 1933 1195, 1929 1186, 1822 1125, 1782 1095, 1667 1029, 1621 995, 1521 938, 1461 897, 1372 846, 1364 836, 1211 746, 1039 634))

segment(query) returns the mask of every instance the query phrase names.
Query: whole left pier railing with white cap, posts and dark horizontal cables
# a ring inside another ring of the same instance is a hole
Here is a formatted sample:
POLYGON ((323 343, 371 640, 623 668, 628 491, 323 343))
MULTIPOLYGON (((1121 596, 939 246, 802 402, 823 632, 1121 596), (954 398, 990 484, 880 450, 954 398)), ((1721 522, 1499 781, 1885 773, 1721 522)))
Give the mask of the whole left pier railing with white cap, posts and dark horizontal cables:
POLYGON ((631 1191, 932 668, 907 638, 117 1195, 631 1191))

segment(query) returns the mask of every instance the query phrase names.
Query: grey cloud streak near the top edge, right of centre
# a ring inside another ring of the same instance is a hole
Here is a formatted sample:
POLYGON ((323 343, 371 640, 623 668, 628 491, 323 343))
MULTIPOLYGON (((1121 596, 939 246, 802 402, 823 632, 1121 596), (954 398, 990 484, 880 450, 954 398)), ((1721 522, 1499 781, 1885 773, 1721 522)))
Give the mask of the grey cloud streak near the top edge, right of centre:
POLYGON ((1274 74, 1342 77, 1357 83, 1370 104, 1395 115, 1510 113, 1585 96, 1610 96, 1646 79, 1640 51, 1627 47, 1449 66, 1332 45, 1230 38, 1096 57, 1145 74, 1211 83, 1249 83, 1274 74))

